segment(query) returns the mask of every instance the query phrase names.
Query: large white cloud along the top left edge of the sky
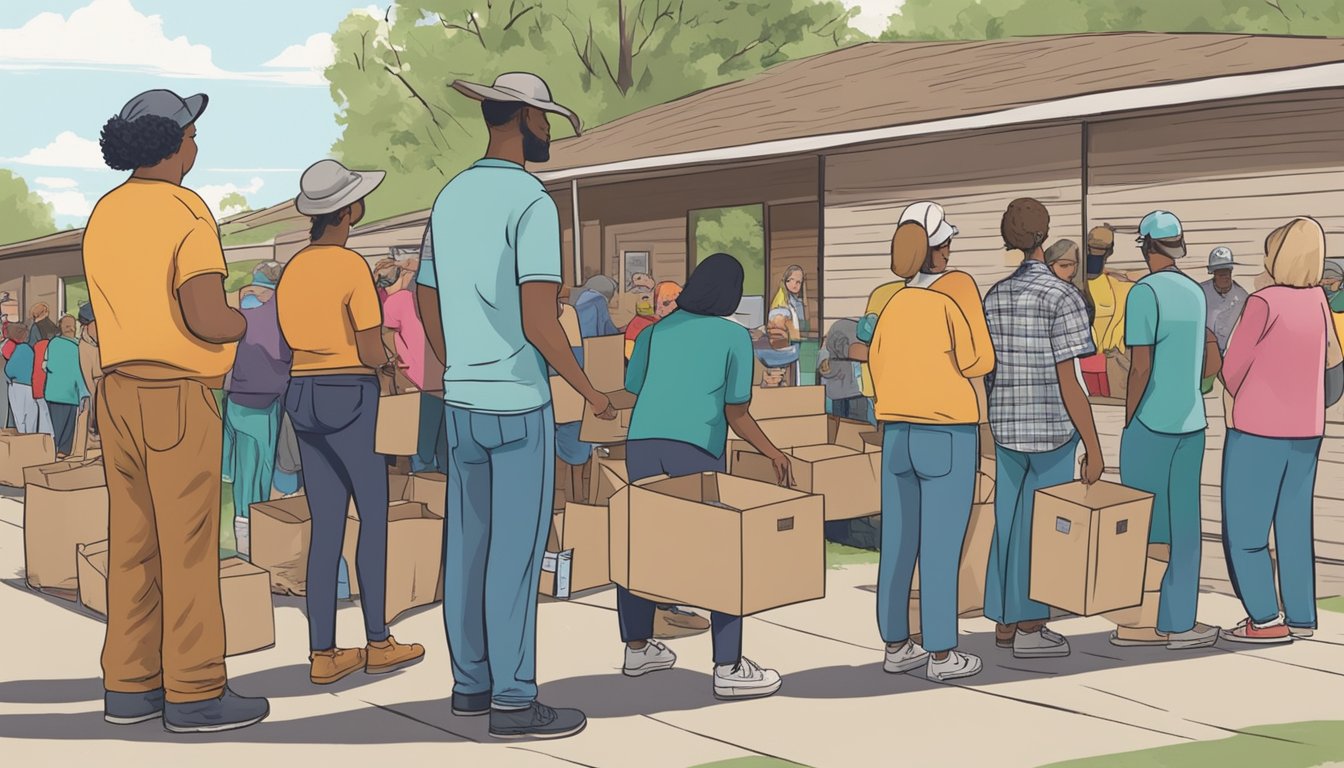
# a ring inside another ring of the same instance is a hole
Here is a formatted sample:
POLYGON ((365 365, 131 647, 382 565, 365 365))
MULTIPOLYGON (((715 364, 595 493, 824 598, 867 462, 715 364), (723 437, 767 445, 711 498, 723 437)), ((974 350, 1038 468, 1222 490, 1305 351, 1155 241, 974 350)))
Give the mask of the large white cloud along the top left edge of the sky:
MULTIPOLYGON (((282 61, 292 46, 271 62, 282 61)), ((269 65, 277 71, 243 73, 215 65, 208 46, 184 36, 168 38, 163 16, 137 11, 130 0, 93 0, 62 16, 38 13, 16 30, 0 30, 0 69, 91 69, 152 73, 185 78, 250 79, 323 85, 310 67, 269 65), (285 67, 285 69, 280 69, 285 67)))

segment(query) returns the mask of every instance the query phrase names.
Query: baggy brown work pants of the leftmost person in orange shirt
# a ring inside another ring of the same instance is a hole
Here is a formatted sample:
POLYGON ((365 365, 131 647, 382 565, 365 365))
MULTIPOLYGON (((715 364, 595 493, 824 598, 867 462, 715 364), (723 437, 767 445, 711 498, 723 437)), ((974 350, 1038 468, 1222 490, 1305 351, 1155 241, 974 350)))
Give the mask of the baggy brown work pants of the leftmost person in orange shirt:
POLYGON ((206 385, 109 371, 98 387, 108 472, 106 689, 173 703, 224 691, 219 600, 223 422, 206 385))

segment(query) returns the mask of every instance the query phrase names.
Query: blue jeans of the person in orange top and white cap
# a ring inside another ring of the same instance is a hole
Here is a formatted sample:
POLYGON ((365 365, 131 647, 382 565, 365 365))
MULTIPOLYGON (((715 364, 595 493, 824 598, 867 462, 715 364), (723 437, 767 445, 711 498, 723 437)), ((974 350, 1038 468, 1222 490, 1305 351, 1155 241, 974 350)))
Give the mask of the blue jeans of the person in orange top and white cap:
POLYGON ((878 629, 910 638, 910 586, 919 561, 919 624, 926 651, 957 647, 957 569, 974 499, 974 424, 888 421, 882 440, 882 560, 878 629))

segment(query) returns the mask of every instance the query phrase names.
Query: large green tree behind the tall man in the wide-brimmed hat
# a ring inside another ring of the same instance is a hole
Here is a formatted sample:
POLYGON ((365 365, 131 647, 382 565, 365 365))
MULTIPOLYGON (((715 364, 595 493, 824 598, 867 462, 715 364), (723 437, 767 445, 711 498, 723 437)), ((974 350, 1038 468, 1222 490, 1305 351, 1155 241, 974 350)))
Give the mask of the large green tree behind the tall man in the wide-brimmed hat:
MULTIPOLYGON (((480 156, 453 79, 535 71, 593 128, 774 63, 863 40, 839 0, 421 0, 347 17, 327 70, 351 165, 386 168, 371 219, 427 207, 480 156)), ((570 135, 554 121, 555 139, 570 135)))

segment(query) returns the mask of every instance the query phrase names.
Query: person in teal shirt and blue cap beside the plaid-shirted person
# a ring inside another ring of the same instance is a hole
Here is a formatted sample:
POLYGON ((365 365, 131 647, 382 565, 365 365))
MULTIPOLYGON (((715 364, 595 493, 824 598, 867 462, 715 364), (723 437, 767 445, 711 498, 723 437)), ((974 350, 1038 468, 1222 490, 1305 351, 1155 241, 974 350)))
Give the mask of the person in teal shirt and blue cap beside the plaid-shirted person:
MULTIPOLYGON (((1199 477, 1204 464, 1204 398, 1200 381, 1218 374, 1218 340, 1207 330, 1199 284, 1176 268, 1185 256, 1180 219, 1153 211, 1138 225, 1138 243, 1150 273, 1125 303, 1125 344, 1132 367, 1125 393, 1120 477, 1153 494, 1149 539, 1171 545, 1163 577, 1157 632, 1169 650, 1204 648, 1218 628, 1196 620, 1199 608, 1199 477)), ((1148 640, 1121 640, 1134 644, 1148 640)), ((1153 640, 1152 644, 1160 640, 1153 640)))

